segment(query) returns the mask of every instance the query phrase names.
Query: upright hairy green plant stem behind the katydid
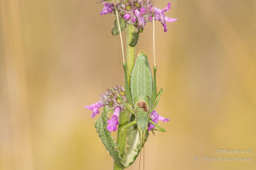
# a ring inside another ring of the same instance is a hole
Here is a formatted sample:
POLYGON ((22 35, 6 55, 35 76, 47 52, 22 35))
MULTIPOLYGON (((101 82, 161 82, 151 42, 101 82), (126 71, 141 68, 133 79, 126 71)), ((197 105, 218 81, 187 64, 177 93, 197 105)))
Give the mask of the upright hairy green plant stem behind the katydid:
MULTIPOLYGON (((132 41, 133 33, 135 33, 135 26, 126 24, 126 63, 127 63, 127 79, 128 84, 130 85, 131 82, 131 75, 132 75, 132 69, 134 66, 134 60, 135 60, 135 47, 130 47, 129 44, 132 41)), ((126 145, 126 137, 127 137, 127 131, 126 129, 123 132, 123 138, 122 138, 122 129, 124 125, 128 124, 130 122, 132 113, 130 113, 127 109, 124 110, 123 113, 119 115, 119 126, 117 131, 117 145, 119 146, 118 150, 124 154, 124 149, 126 145), (122 139, 122 141, 121 141, 122 139)), ((121 170, 121 168, 114 163, 114 169, 113 170, 121 170)))

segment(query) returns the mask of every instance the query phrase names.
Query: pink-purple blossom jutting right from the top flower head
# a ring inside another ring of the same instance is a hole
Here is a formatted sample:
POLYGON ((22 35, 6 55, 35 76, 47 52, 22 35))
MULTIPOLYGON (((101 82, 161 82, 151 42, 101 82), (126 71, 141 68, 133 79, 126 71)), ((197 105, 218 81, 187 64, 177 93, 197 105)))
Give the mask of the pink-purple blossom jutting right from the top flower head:
MULTIPOLYGON (((160 21, 164 26, 164 32, 167 32, 167 26, 166 22, 174 22, 177 20, 177 18, 169 18, 165 17, 164 12, 169 11, 171 9, 171 3, 168 3, 167 6, 164 9, 154 8, 155 9, 155 17, 158 21, 160 21)), ((153 12, 153 7, 150 8, 150 10, 153 12)), ((150 17, 149 20, 152 20, 150 17)))

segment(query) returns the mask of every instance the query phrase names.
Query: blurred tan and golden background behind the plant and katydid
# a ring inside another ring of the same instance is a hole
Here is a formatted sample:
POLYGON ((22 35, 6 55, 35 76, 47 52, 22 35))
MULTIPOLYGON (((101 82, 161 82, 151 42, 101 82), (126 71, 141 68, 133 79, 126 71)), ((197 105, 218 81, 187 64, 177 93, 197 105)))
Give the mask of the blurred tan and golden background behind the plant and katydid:
MULTIPOLYGON (((114 16, 94 0, 0 0, 0 169, 111 170, 85 105, 123 85, 114 16)), ((164 8, 168 0, 153 1, 164 8)), ((156 108, 170 122, 150 134, 148 170, 255 169, 193 161, 216 148, 256 150, 256 1, 172 0, 168 32, 156 22, 156 108)), ((123 33, 125 36, 125 32, 123 33)), ((152 23, 137 51, 153 64, 152 23)), ((115 135, 115 133, 114 133, 115 135)), ((129 167, 138 169, 138 160, 129 167)))

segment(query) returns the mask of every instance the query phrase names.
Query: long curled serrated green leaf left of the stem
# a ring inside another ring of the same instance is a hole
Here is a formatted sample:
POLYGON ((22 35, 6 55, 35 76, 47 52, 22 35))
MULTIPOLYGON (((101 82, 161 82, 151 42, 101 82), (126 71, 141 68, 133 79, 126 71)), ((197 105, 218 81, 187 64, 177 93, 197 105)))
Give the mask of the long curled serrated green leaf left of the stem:
POLYGON ((98 119, 98 121, 95 123, 96 131, 99 133, 99 137, 104 144, 105 148, 108 150, 108 153, 116 164, 120 166, 121 168, 126 168, 126 166, 123 163, 123 158, 121 157, 121 152, 118 150, 117 144, 114 140, 114 138, 111 136, 110 132, 108 131, 107 127, 107 121, 108 116, 106 115, 108 112, 107 108, 104 107, 104 111, 101 115, 101 117, 98 119))

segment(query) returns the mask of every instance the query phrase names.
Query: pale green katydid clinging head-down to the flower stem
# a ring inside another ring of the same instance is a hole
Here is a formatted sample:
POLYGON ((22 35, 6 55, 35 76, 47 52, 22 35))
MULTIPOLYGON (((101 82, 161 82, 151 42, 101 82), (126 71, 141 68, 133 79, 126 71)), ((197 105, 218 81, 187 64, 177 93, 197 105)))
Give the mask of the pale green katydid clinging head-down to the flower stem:
MULTIPOLYGON (((130 108, 127 103, 125 103, 119 94, 117 94, 118 98, 123 102, 124 106, 135 115, 135 120, 124 126, 124 129, 132 126, 133 124, 137 124, 137 127, 140 131, 141 136, 141 146, 142 146, 142 135, 143 135, 143 144, 144 144, 144 136, 145 132, 148 129, 148 123, 152 123, 159 129, 154 129, 158 131, 165 132, 165 129, 157 125, 153 122, 149 115, 155 109, 158 100, 163 92, 163 89, 160 92, 156 93, 156 66, 154 66, 154 81, 152 78, 151 70, 148 64, 148 57, 145 54, 145 51, 140 51, 134 68, 132 70, 131 75, 131 84, 128 85, 127 80, 127 71, 126 71, 126 63, 123 63, 124 66, 124 75, 125 75, 125 91, 126 97, 129 104, 132 106, 130 108), (131 88, 130 88, 131 87, 131 88)), ((113 89, 111 89, 115 92, 113 89)), ((140 154, 141 156, 141 154, 140 154)), ((144 169, 144 168, 143 168, 144 169)))

